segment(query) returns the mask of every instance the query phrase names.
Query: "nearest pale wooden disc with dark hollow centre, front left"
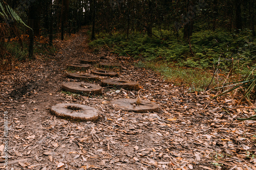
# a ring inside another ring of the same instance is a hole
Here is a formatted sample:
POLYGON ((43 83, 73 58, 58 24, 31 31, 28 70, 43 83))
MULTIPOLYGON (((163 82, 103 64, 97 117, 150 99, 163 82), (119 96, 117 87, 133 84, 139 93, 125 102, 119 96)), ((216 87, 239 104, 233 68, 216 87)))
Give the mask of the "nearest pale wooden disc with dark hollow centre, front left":
POLYGON ((62 118, 93 122, 99 119, 101 112, 86 105, 60 103, 52 106, 50 113, 62 118))

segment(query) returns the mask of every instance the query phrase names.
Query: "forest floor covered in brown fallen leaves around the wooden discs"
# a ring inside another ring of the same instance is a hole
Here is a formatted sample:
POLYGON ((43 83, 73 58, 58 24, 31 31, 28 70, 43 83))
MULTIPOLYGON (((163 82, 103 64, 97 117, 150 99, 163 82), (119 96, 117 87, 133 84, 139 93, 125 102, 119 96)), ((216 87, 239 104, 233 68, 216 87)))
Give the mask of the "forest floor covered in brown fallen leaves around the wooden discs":
POLYGON ((135 67, 129 57, 94 55, 87 38, 82 30, 61 41, 55 56, 37 56, 1 71, 1 169, 256 169, 256 122, 235 119, 255 114, 255 108, 238 106, 232 98, 210 99, 210 92, 188 93, 152 70, 135 67), (140 90, 104 87, 102 95, 90 96, 63 92, 63 82, 76 81, 65 76, 67 64, 84 56, 121 63, 119 78, 138 82, 140 90), (159 111, 134 113, 110 104, 138 97, 155 102, 159 111), (50 114, 58 103, 88 105, 102 114, 97 122, 71 122, 50 114))

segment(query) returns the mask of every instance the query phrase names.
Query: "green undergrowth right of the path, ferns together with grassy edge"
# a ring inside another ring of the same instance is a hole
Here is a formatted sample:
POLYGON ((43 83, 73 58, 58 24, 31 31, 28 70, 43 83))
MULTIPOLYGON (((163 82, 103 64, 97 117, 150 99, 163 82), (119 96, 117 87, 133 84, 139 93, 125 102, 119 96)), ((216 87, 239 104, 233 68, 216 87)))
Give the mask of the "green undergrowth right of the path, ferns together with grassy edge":
MULTIPOLYGON (((89 45, 95 53, 106 48, 119 56, 146 61, 146 67, 156 69, 166 79, 195 90, 207 87, 212 78, 209 72, 213 73, 213 70, 218 78, 220 72, 229 75, 228 78, 232 76, 230 80, 218 80, 218 83, 227 83, 241 79, 255 64, 256 42, 251 38, 250 30, 239 33, 225 30, 195 32, 190 37, 191 50, 188 41, 181 37, 182 32, 177 36, 171 31, 162 30, 160 33, 154 30, 154 35, 150 38, 135 32, 127 39, 122 33, 111 36, 100 33, 89 45)), ((216 85, 215 80, 211 87, 216 85)))

